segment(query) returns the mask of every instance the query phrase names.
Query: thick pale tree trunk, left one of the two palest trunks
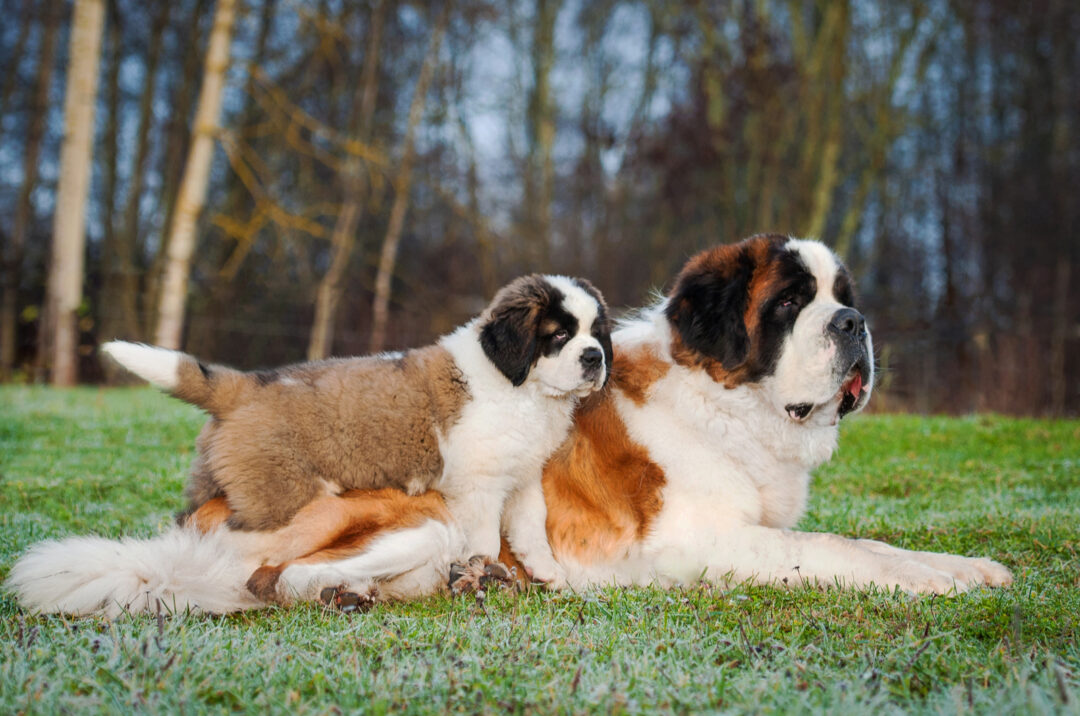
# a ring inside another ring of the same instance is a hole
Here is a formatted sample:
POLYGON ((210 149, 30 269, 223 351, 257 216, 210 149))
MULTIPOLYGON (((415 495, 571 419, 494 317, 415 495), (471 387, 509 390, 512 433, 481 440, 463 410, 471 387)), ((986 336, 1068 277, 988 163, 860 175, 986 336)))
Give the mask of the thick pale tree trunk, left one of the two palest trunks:
POLYGON ((90 189, 94 104, 104 26, 104 0, 76 0, 64 99, 60 178, 56 189, 42 333, 48 350, 41 351, 51 363, 54 386, 73 386, 78 378, 76 314, 82 302, 86 194, 90 189))

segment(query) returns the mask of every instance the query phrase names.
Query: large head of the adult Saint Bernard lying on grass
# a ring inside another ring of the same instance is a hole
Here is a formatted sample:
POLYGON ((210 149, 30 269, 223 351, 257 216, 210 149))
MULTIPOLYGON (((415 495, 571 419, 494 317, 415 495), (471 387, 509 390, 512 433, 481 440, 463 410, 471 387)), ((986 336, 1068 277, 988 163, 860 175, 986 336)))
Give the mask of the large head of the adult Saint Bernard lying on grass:
POLYGON ((874 383, 873 343, 847 269, 823 244, 758 235, 691 258, 667 299, 676 362, 757 384, 799 423, 835 424, 874 383))

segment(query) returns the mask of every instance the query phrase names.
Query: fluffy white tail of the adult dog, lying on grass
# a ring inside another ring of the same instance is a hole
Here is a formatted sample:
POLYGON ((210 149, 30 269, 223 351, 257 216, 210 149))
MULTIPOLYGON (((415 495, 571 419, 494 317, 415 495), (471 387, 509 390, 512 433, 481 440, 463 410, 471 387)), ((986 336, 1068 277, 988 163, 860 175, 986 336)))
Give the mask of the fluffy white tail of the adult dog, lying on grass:
POLYGON ((257 565, 242 558, 220 531, 174 527, 149 539, 71 537, 35 544, 6 586, 36 612, 114 618, 123 612, 226 613, 264 603, 247 577, 257 565))

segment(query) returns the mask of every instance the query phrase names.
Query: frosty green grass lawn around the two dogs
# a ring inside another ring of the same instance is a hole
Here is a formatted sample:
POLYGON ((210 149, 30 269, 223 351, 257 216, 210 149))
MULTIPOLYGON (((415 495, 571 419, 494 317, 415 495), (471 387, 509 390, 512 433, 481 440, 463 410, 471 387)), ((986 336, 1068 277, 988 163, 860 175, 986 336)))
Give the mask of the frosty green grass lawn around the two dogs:
MULTIPOLYGON (((202 423, 146 389, 0 389, 0 579, 32 542, 151 535, 202 423)), ((0 713, 1080 713, 1080 421, 845 422, 801 527, 985 555, 956 597, 606 589, 227 618, 0 596, 0 713)))

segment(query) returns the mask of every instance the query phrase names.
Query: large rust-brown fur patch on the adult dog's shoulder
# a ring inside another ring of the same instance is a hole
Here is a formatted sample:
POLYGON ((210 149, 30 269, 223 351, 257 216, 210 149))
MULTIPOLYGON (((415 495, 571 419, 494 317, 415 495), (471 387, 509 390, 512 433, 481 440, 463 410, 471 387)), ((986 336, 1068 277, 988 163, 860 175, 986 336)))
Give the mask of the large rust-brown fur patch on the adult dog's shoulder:
POLYGON ((612 392, 588 398, 573 432, 544 468, 555 556, 582 564, 623 556, 660 512, 664 482, 660 467, 626 433, 612 392))

